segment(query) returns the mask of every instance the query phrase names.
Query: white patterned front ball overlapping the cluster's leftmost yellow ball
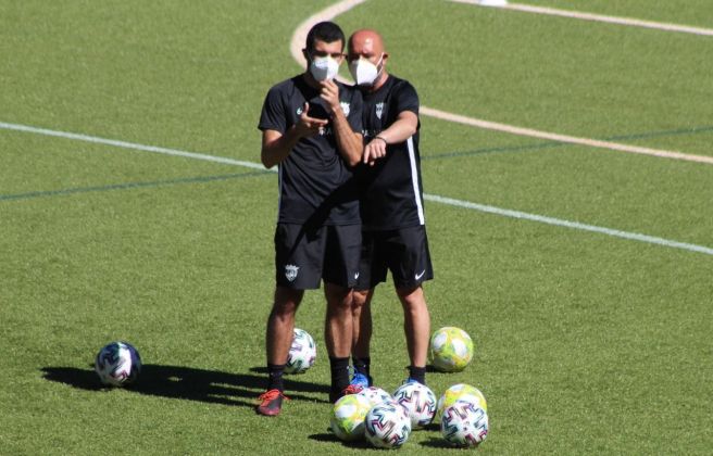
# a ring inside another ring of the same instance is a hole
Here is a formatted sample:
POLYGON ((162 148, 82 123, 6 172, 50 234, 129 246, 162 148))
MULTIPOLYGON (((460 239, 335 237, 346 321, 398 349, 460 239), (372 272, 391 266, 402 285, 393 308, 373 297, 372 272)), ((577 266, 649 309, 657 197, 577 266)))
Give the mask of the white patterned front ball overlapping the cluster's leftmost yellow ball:
POLYGON ((411 434, 409 413, 391 400, 373 406, 364 418, 364 435, 378 448, 398 448, 411 434))

